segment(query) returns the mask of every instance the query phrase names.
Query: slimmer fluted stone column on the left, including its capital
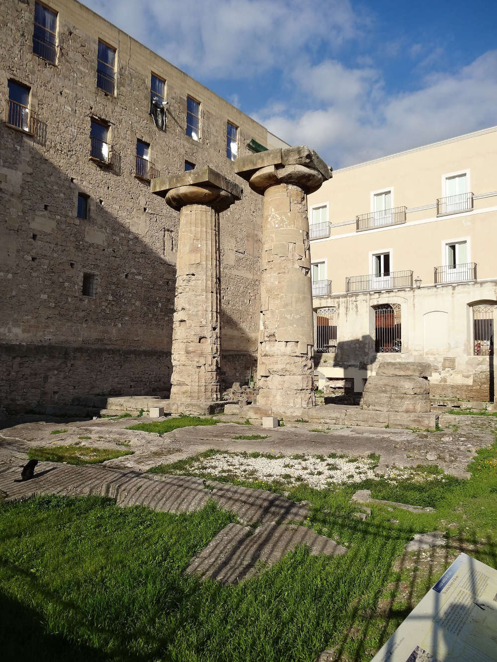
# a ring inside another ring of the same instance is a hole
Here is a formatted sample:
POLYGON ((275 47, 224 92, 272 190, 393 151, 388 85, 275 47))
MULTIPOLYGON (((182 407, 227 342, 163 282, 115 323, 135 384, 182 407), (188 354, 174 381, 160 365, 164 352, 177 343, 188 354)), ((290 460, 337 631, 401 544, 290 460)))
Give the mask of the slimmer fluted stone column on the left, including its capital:
POLYGON ((172 326, 172 401, 220 399, 219 212, 241 188, 210 167, 158 177, 152 193, 180 211, 172 326))

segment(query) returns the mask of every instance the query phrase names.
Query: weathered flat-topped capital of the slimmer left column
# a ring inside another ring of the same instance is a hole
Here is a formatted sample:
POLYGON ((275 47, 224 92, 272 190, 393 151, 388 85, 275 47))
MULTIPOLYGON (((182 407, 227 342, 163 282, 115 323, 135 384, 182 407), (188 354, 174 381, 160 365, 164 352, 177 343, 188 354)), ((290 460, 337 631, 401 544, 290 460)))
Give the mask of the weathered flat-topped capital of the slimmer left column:
POLYGON ((185 205, 207 205, 215 211, 225 211, 242 197, 239 185, 209 166, 152 179, 150 190, 165 197, 166 203, 176 211, 185 205))

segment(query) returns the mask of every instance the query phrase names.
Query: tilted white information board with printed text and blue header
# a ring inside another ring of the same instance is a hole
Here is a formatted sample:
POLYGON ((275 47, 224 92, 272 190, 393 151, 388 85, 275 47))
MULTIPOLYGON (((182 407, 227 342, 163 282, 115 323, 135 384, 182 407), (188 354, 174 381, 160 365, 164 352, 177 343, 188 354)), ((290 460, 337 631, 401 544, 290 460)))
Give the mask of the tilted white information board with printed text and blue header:
POLYGON ((460 554, 372 662, 497 662, 497 570, 460 554))

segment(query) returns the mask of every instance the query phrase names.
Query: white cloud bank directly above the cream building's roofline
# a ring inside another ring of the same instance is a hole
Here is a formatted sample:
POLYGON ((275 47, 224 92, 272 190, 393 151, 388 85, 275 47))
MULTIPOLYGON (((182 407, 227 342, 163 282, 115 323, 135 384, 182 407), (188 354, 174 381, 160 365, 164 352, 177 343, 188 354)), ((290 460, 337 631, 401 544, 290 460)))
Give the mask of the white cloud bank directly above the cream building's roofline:
MULTIPOLYGON (((328 89, 345 85, 345 93, 314 93, 314 109, 271 113, 257 119, 293 144, 309 144, 333 166, 346 166, 496 124, 497 50, 489 51, 457 73, 433 73, 419 89, 389 94, 370 69, 325 68, 328 89), (348 101, 347 101, 348 100, 348 101), (345 103, 344 103, 345 102, 345 103)), ((324 80, 323 68, 310 68, 304 91, 324 80), (317 71, 315 71, 317 70, 317 71)), ((301 72, 296 74, 301 80, 301 72)), ((307 99, 308 103, 309 99, 307 99)), ((302 106, 301 106, 302 108, 302 106)))

